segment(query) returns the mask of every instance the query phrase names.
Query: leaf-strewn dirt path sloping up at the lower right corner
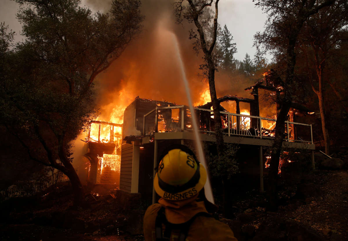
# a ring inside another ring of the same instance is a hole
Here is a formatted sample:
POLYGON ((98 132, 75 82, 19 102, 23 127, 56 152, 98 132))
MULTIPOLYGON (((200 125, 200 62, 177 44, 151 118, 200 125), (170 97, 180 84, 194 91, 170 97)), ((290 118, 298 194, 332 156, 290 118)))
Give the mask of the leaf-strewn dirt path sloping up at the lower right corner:
MULTIPOLYGON (((307 223, 328 238, 331 233, 340 233, 348 238, 348 172, 332 171, 321 187, 323 196, 313 198, 286 216, 307 223)), ((331 239, 330 239, 331 240, 331 239)))

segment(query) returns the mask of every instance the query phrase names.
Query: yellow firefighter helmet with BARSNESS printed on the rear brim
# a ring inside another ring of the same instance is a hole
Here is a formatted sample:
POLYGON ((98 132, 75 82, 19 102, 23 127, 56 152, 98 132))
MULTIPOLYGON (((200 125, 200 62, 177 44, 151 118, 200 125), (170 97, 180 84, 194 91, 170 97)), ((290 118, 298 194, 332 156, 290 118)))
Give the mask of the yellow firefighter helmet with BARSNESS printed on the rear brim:
POLYGON ((207 180, 207 172, 195 154, 183 145, 175 145, 162 155, 153 186, 157 194, 169 200, 196 195, 207 180))

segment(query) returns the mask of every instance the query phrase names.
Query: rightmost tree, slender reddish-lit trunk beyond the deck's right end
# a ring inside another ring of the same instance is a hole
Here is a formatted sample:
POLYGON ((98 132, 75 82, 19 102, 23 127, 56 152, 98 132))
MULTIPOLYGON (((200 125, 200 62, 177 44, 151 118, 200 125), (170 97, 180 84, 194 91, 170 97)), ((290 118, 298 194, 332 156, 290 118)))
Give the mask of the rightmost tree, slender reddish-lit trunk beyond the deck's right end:
MULTIPOLYGON (((317 14, 311 16, 304 24, 299 37, 299 48, 306 59, 309 82, 319 101, 326 154, 329 154, 330 138, 324 107, 324 74, 327 60, 332 58, 335 48, 345 38, 342 35, 347 31, 347 14, 348 6, 342 6, 339 2, 335 2, 332 6, 321 9, 317 14), (315 69, 315 75, 311 74, 310 67, 315 69)), ((328 77, 326 82, 331 85, 335 94, 342 100, 342 96, 328 77)))

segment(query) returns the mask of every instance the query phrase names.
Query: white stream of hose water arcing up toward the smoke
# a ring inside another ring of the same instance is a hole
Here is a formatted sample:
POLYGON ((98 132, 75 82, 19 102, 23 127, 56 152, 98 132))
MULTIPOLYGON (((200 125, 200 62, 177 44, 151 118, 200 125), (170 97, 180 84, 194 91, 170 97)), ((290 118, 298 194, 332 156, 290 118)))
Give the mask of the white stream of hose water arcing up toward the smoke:
POLYGON ((186 91, 186 95, 187 95, 187 100, 189 102, 188 104, 190 106, 190 112, 191 112, 191 118, 192 118, 192 129, 193 129, 193 133, 195 134, 196 148, 197 148, 197 152, 198 152, 198 160, 205 167, 205 170, 207 170, 207 174, 208 174, 207 175, 207 181, 206 181, 206 183, 204 185, 205 196, 206 196, 208 201, 210 201, 211 203, 214 203, 213 191, 212 191, 211 183, 210 183, 210 180, 209 180, 208 165, 207 165, 206 160, 205 160, 203 147, 202 147, 202 142, 201 142, 201 140, 199 138, 197 118, 196 118, 195 110, 193 109, 189 82, 188 82, 188 80, 186 78, 186 72, 185 72, 185 68, 184 68, 184 63, 183 63, 183 61, 181 59, 179 44, 178 44, 176 35, 174 33, 171 33, 171 34, 173 36, 175 53, 176 53, 177 60, 179 62, 179 66, 180 66, 180 70, 181 70, 181 74, 182 74, 182 79, 183 79, 184 85, 185 85, 185 91, 186 91))

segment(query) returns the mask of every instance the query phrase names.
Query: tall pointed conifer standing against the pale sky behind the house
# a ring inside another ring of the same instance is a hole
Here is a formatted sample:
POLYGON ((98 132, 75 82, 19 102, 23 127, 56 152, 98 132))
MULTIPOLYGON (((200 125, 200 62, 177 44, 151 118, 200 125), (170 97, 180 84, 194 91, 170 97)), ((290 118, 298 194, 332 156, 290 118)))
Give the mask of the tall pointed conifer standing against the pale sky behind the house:
POLYGON ((220 66, 222 69, 234 71, 236 63, 233 55, 237 53, 236 43, 232 43, 233 36, 228 31, 226 24, 223 26, 222 32, 218 34, 218 42, 216 44, 217 53, 221 56, 220 66))

